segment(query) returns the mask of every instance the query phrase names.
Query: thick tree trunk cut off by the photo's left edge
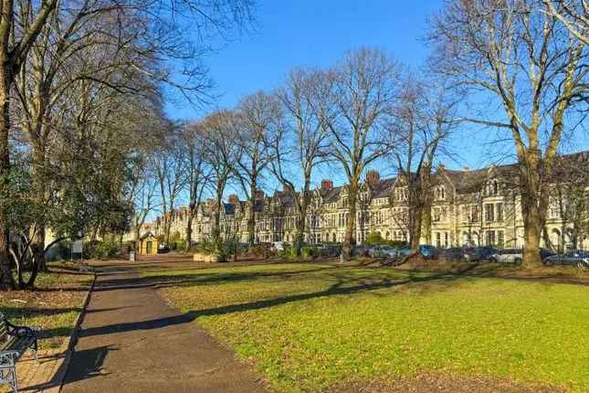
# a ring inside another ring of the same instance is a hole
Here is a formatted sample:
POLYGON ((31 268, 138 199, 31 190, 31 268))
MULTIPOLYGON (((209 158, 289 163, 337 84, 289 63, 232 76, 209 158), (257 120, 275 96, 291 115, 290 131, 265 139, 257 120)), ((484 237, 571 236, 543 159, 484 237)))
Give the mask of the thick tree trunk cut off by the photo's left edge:
MULTIPOLYGON (((8 12, 8 11, 6 11, 8 12)), ((7 59, 0 58, 0 197, 4 197, 9 186, 10 174, 10 147, 8 145, 8 132, 10 130, 10 86, 11 75, 7 66, 7 59)), ((10 269, 8 255, 9 229, 7 222, 7 206, 0 208, 0 289, 14 288, 14 279, 10 269)))

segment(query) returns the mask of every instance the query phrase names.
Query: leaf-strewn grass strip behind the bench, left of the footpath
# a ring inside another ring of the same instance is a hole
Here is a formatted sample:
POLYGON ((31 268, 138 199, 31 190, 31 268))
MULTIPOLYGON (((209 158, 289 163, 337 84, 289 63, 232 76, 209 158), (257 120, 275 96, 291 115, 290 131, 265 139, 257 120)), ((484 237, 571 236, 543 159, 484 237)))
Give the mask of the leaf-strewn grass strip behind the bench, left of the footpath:
POLYGON ((91 279, 67 271, 39 273, 35 291, 0 292, 0 311, 13 324, 41 327, 41 349, 57 348, 71 335, 91 279))

